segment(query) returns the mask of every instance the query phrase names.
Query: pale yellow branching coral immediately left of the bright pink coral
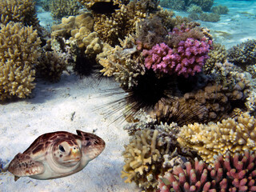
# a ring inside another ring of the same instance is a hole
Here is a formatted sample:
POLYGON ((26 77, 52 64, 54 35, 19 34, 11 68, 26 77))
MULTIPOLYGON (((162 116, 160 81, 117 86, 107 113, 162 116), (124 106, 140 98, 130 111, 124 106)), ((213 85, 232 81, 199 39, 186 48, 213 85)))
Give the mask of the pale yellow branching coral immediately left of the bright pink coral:
POLYGON ((121 86, 129 89, 138 84, 138 76, 145 74, 134 43, 134 38, 129 35, 124 41, 120 40, 121 46, 111 47, 97 56, 104 67, 101 72, 108 77, 114 76, 121 86))

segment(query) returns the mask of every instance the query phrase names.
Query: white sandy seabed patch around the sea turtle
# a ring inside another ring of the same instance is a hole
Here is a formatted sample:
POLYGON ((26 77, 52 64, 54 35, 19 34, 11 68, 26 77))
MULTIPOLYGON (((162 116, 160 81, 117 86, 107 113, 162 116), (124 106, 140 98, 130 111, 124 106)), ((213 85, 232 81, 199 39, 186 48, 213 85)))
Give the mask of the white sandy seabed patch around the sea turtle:
POLYGON ((0 174, 0 191, 139 191, 120 178, 123 145, 129 141, 121 122, 106 119, 103 110, 95 110, 116 97, 99 96, 98 90, 117 87, 103 79, 99 85, 92 78, 80 79, 63 74, 58 83, 38 82, 34 98, 0 105, 0 158, 6 164, 26 150, 39 135, 59 130, 93 132, 106 142, 106 149, 85 169, 66 178, 35 180, 28 177, 14 182, 9 172, 0 174), (72 114, 74 120, 71 121, 72 114))

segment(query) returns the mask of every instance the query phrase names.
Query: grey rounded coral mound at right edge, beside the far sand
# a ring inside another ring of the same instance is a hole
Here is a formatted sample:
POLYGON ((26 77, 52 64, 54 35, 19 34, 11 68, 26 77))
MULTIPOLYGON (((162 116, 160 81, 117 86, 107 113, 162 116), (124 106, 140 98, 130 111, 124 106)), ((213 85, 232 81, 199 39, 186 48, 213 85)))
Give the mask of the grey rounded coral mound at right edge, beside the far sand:
POLYGON ((227 57, 229 62, 242 67, 256 64, 256 40, 247 40, 231 47, 227 57))

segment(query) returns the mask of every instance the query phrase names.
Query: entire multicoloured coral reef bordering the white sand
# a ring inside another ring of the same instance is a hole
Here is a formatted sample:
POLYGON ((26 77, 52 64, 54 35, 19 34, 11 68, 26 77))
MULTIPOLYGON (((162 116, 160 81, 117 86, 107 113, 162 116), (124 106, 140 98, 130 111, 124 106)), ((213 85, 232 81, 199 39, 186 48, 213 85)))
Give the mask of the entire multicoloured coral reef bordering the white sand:
POLYGON ((35 78, 57 82, 67 68, 114 77, 127 93, 124 182, 144 191, 256 191, 256 40, 226 50, 191 19, 216 22, 226 6, 172 2, 38 1, 59 21, 47 32, 34 2, 1 0, 0 100, 26 98, 35 78))

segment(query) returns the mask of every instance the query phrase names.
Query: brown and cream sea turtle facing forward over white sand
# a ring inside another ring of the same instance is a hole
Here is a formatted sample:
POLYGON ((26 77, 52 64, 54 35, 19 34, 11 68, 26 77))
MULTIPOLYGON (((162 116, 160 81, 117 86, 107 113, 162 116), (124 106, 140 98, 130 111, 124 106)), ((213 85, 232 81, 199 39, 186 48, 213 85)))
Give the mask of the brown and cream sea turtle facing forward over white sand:
POLYGON ((42 134, 23 154, 14 157, 8 170, 14 174, 15 181, 25 176, 62 178, 82 170, 104 148, 102 138, 81 130, 77 130, 77 134, 66 131, 42 134))

